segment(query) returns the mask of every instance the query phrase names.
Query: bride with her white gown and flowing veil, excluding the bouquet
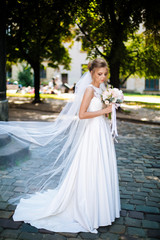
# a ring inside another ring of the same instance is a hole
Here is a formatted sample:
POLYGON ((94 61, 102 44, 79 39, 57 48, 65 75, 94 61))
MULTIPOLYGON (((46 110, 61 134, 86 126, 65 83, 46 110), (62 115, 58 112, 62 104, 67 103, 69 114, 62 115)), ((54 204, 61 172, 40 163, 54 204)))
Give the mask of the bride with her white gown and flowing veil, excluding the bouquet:
POLYGON ((101 101, 107 76, 105 60, 91 61, 76 84, 74 100, 41 133, 40 123, 0 125, 16 137, 23 129, 24 139, 47 156, 47 166, 33 177, 34 192, 16 207, 15 221, 55 232, 97 233, 99 226, 120 217, 116 155, 106 117, 112 107, 103 108, 101 101))

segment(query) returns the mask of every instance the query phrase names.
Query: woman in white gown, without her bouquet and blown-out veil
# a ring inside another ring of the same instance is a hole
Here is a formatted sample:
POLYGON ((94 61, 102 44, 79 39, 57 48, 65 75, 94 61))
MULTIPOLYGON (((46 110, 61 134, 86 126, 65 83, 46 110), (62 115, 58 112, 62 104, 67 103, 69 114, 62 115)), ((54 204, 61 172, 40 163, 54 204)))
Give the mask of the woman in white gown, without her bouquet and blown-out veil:
MULTIPOLYGON (((116 155, 106 117, 112 107, 103 108, 101 101, 107 76, 105 60, 95 59, 89 64, 89 72, 76 86, 81 98, 74 106, 76 120, 69 120, 72 124, 75 121, 75 125, 67 128, 66 144, 71 144, 63 145, 67 146, 67 154, 61 181, 53 189, 21 198, 13 215, 15 221, 55 232, 97 233, 99 226, 111 225, 119 218, 116 155)), ((49 174, 56 175, 52 170, 49 174)))

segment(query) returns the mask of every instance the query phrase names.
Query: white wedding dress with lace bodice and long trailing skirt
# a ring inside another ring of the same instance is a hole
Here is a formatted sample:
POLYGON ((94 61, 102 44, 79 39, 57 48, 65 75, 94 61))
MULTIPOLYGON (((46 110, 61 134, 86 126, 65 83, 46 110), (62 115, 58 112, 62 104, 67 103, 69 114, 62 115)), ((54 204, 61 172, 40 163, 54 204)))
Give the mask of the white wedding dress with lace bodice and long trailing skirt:
MULTIPOLYGON (((88 111, 102 109, 94 87, 88 111)), ((109 121, 87 119, 83 139, 60 187, 21 199, 13 219, 55 232, 97 233, 120 217, 117 163, 109 121)))

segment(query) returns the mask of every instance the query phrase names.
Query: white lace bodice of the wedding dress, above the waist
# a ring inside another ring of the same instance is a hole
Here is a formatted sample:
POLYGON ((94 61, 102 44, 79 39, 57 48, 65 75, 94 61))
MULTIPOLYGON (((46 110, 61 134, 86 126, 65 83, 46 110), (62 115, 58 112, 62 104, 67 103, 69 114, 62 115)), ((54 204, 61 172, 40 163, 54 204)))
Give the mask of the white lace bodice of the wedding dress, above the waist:
POLYGON ((102 89, 97 88, 93 86, 92 84, 89 84, 94 89, 94 97, 92 98, 90 105, 88 107, 88 111, 98 111, 102 109, 103 103, 101 101, 101 94, 102 94, 102 89))

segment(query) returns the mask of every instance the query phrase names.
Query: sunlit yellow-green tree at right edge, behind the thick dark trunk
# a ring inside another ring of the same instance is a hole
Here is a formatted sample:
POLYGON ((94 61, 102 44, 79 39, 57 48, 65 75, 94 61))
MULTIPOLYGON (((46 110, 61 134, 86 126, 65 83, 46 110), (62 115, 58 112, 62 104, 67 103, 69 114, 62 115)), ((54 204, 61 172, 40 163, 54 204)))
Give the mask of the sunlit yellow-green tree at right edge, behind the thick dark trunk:
POLYGON ((135 33, 125 43, 127 49, 120 68, 120 84, 123 85, 130 75, 157 78, 160 76, 160 46, 153 37, 135 33))

